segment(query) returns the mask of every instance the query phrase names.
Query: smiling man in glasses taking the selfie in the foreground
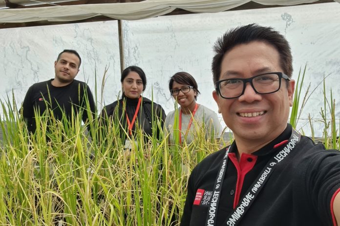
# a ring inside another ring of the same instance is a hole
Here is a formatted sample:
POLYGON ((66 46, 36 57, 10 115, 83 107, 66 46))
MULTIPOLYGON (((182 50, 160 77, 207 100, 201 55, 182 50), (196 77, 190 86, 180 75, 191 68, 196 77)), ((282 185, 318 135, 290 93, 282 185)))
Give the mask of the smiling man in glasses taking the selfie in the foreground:
POLYGON ((192 170, 181 225, 337 225, 340 152, 287 124, 295 88, 287 40, 249 24, 214 50, 212 95, 234 142, 192 170))

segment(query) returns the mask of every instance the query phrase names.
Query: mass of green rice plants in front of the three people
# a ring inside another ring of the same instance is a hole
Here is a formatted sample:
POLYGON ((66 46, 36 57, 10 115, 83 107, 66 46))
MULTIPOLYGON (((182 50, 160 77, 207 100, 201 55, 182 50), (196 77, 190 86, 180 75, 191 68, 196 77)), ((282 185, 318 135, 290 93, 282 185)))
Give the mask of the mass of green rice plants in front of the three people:
POLYGON ((120 118, 82 125, 86 110, 62 120, 36 112, 30 134, 15 101, 1 104, 2 225, 178 225, 191 169, 220 148, 203 130, 192 144, 170 145, 155 119, 160 137, 139 129, 126 150, 120 118))

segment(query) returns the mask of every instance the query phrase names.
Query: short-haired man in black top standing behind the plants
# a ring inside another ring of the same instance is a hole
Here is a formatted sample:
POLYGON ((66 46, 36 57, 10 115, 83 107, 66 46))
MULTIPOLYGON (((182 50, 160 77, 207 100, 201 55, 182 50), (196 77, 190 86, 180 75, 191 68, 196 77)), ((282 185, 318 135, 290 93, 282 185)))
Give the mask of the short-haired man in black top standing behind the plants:
POLYGON ((27 122, 29 132, 35 132, 35 112, 43 115, 46 110, 52 110, 56 119, 63 115, 70 117, 72 109, 78 113, 83 110, 83 121, 94 118, 96 106, 92 93, 85 82, 75 80, 79 72, 81 58, 75 50, 64 50, 54 62, 54 78, 35 83, 27 91, 22 103, 22 116, 27 122), (86 110, 89 105, 89 114, 86 110))

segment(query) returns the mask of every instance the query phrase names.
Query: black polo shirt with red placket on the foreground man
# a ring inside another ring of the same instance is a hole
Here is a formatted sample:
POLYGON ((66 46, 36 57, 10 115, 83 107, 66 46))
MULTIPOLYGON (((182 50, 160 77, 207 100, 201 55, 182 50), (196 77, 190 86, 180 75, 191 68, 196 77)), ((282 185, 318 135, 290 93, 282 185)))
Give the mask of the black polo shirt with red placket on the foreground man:
MULTIPOLYGON (((235 142, 228 154, 220 195, 217 223, 229 216, 267 162, 281 151, 292 133, 286 130, 252 154, 243 153, 238 162, 235 142)), ((226 148, 214 152, 191 172, 181 226, 204 226, 212 190, 226 148)), ((331 199, 340 188, 340 152, 301 136, 296 148, 273 171, 243 216, 239 226, 333 225, 331 199)))

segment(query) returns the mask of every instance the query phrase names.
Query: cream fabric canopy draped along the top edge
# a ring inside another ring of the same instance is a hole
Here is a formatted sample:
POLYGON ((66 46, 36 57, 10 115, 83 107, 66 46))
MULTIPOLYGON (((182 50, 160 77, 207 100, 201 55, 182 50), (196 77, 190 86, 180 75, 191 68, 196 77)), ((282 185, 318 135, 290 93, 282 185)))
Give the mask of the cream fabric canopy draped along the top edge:
MULTIPOLYGON (((1 23, 32 21, 75 21, 96 16, 136 20, 162 16, 176 8, 194 13, 217 13, 251 0, 145 0, 129 3, 106 3, 0 10, 1 23)), ((263 5, 296 5, 318 0, 255 0, 263 5)), ((340 3, 340 0, 334 0, 340 3)))

